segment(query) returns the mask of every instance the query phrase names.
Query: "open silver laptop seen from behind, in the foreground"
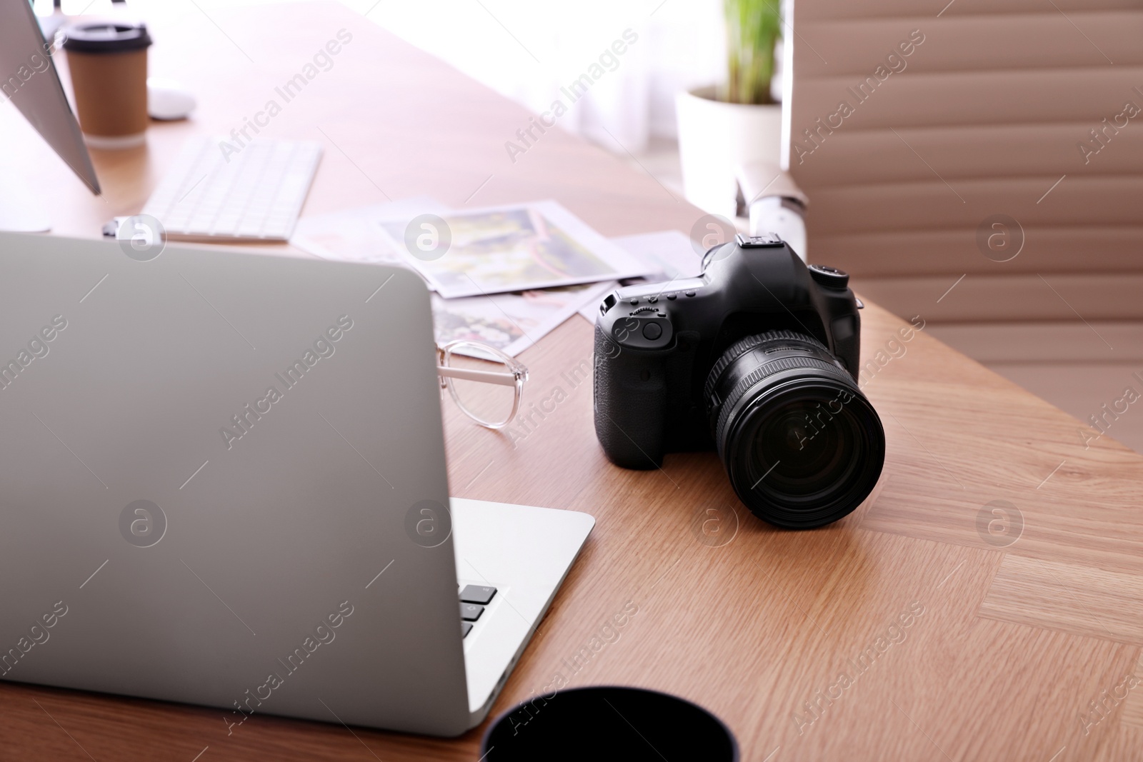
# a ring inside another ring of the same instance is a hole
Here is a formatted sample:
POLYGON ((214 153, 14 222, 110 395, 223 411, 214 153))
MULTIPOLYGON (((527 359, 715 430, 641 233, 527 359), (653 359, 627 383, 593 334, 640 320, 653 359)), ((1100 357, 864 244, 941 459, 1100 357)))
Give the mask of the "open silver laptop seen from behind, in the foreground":
POLYGON ((0 234, 0 680, 479 724, 594 520, 450 499, 434 360, 401 267, 0 234))

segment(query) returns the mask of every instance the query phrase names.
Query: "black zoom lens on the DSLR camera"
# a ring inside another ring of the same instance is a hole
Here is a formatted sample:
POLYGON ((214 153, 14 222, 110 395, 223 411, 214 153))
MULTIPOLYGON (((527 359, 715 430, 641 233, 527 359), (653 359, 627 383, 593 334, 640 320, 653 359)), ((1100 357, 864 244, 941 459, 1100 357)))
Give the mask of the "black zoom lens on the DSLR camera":
POLYGON ((816 339, 789 330, 742 339, 714 363, 705 393, 730 483, 759 519, 822 527, 877 484, 881 420, 816 339))

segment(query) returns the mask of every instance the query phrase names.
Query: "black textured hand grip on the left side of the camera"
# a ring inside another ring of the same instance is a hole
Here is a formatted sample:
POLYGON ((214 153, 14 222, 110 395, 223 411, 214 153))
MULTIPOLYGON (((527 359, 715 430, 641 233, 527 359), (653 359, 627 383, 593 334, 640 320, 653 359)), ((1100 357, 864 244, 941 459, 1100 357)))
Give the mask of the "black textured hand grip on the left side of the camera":
POLYGON ((617 466, 647 470, 663 464, 666 354, 623 348, 596 326, 596 436, 617 466))

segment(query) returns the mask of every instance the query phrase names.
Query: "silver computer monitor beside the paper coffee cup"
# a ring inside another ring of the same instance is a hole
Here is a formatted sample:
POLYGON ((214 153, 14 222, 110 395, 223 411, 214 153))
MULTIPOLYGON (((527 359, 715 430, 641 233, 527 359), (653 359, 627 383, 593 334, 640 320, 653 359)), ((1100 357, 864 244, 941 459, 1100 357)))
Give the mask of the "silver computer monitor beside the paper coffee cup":
MULTIPOLYGON (((30 2, 0 1, 0 103, 11 101, 72 171, 98 194, 99 181, 50 50, 30 2)), ((14 187, 10 173, 0 177, 0 228, 13 230, 3 223, 13 216, 14 206, 26 207, 27 193, 14 187)), ((13 222, 19 226, 19 219, 13 222)))

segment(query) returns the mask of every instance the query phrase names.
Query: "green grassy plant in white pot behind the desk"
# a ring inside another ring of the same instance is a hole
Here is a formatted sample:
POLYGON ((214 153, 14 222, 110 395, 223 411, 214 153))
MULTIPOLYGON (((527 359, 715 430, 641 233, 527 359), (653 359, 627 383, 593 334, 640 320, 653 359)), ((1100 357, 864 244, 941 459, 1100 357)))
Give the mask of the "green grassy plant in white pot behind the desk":
POLYGON ((726 81, 676 99, 687 200, 734 216, 734 170, 748 161, 778 162, 782 105, 770 95, 774 48, 782 38, 780 0, 724 0, 726 81))

